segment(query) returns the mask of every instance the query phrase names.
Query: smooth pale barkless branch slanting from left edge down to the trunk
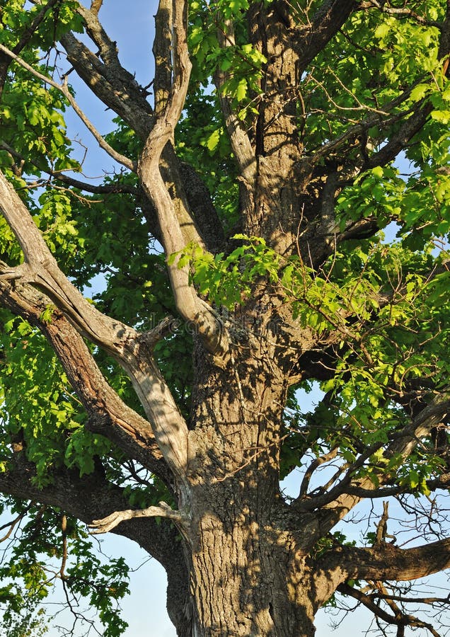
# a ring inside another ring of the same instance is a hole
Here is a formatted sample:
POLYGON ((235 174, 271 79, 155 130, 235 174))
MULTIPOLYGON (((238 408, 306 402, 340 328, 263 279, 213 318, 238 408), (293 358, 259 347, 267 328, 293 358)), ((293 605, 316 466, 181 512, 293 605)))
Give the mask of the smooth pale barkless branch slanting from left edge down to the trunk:
POLYGON ((6 268, 2 276, 43 289, 78 331, 115 357, 132 379, 168 465, 183 482, 188 428, 156 367, 153 352, 133 328, 102 314, 69 282, 27 208, 1 173, 0 210, 25 256, 25 263, 6 268))

